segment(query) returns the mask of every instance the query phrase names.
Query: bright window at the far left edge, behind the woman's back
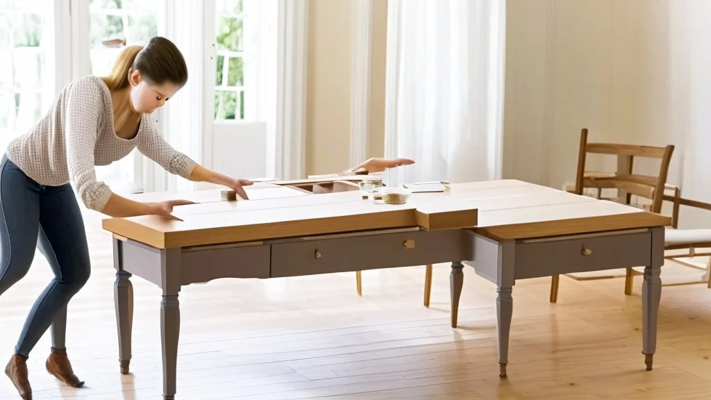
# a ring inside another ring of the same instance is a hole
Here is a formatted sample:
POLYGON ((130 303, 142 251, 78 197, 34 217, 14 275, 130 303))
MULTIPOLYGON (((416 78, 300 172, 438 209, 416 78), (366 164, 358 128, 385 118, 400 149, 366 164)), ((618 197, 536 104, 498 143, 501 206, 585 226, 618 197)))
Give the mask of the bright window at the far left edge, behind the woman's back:
POLYGON ((0 150, 54 100, 54 11, 43 0, 0 0, 0 150))

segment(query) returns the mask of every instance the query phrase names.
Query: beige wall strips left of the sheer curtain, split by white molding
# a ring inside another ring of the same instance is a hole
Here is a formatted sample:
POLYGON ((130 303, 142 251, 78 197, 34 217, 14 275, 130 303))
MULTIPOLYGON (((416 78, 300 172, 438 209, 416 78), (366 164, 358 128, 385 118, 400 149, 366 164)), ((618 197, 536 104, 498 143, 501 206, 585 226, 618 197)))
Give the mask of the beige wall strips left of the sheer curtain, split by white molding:
MULTIPOLYGON (((309 1, 306 173, 348 167, 351 145, 351 0, 309 1)), ((370 156, 385 146, 385 23, 387 0, 373 7, 370 156)))

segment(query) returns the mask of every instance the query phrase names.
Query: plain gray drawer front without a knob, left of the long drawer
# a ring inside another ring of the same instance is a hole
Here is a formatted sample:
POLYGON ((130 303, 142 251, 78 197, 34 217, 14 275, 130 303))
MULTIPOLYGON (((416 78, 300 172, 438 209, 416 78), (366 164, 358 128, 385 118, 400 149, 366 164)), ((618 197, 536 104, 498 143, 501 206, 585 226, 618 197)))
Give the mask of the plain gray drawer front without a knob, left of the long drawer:
POLYGON ((269 246, 193 248, 184 251, 182 284, 218 278, 269 278, 269 246))

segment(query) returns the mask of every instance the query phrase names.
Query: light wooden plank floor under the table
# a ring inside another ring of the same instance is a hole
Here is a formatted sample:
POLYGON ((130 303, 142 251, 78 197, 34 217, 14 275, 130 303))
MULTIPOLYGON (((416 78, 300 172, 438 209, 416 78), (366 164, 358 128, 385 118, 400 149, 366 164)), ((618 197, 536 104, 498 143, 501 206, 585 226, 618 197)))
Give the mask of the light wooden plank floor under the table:
MULTIPOLYGON (((70 303, 68 351, 85 388, 44 370, 45 335, 29 360, 35 399, 161 399, 160 292, 134 278, 132 374, 119 374, 109 236, 87 221, 92 278, 70 303)), ((668 263, 666 282, 700 272, 668 263)), ((449 327, 449 266, 436 265, 431 307, 424 267, 183 288, 177 399, 710 399, 711 290, 664 288, 655 369, 641 354, 641 278, 519 282, 508 379, 496 363, 496 290, 465 269, 459 328, 449 327)), ((0 297, 0 363, 50 278, 41 255, 0 297)), ((0 399, 18 399, 0 376, 0 399)))

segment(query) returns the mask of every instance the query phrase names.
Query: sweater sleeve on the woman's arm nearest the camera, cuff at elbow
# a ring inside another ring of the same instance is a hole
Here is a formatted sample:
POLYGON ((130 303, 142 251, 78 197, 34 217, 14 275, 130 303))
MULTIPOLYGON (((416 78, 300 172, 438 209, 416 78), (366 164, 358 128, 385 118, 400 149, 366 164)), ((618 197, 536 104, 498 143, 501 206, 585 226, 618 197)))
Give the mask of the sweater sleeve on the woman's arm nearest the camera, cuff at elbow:
POLYGON ((102 115, 100 88, 91 80, 77 80, 68 90, 65 144, 69 179, 88 209, 102 211, 112 191, 96 181, 94 148, 102 115))

